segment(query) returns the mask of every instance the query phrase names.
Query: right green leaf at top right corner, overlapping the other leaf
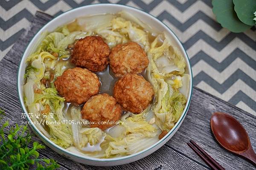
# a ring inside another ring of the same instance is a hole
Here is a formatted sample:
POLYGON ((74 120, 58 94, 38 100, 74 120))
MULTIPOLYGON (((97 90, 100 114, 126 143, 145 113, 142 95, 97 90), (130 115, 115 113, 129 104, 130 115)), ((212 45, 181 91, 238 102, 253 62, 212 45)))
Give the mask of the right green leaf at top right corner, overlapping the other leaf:
POLYGON ((256 0, 233 0, 239 20, 249 26, 254 26, 253 12, 256 11, 256 0))

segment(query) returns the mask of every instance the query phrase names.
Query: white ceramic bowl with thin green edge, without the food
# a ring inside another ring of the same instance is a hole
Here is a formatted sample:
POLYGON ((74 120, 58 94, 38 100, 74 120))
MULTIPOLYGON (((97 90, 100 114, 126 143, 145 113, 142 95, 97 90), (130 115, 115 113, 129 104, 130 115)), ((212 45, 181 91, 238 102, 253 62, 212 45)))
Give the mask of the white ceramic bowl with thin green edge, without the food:
POLYGON ((151 147, 146 148, 145 150, 142 150, 138 153, 124 156, 121 158, 112 158, 112 159, 96 159, 86 156, 80 156, 75 153, 71 153, 58 145, 54 144, 52 141, 50 141, 47 137, 45 137, 36 127, 35 125, 31 125, 32 129, 35 131, 35 133, 42 139, 42 141, 47 144, 52 150, 55 152, 66 156, 69 159, 72 159, 74 161, 80 162, 82 164, 89 164, 89 165, 95 165, 95 166, 113 166, 113 165, 120 165, 120 164, 127 164, 133 161, 137 161, 139 159, 144 158, 145 156, 148 156, 149 154, 153 153, 157 149, 159 149, 163 144, 165 144, 171 137, 175 134, 175 132, 178 130, 180 125, 182 124, 183 120, 185 119, 186 113, 189 108, 189 104, 191 101, 191 95, 192 95, 192 70, 191 65, 189 63, 189 58, 186 54, 185 49, 183 48, 182 44, 176 37, 176 35, 160 20, 157 18, 151 16, 150 14, 141 11, 136 8, 123 6, 123 5, 117 5, 117 4, 95 4, 95 5, 88 5, 88 6, 82 6, 79 8, 72 9, 70 11, 65 12, 64 14, 59 15, 58 17, 51 20, 49 23, 47 23, 43 28, 41 28, 40 31, 35 35, 35 37, 31 40, 29 45, 26 48, 26 51, 23 54, 23 57, 20 62, 20 67, 18 70, 18 77, 17 77, 17 88, 18 88, 18 95, 20 99, 20 105, 26 113, 26 117, 28 121, 31 122, 31 119, 28 116, 28 112, 26 110, 26 106, 23 99, 23 84, 24 84, 24 72, 26 68, 26 58, 33 52, 33 49, 35 49, 34 44, 38 42, 38 39, 43 31, 54 31, 55 28, 58 26, 62 26, 72 20, 74 20, 76 17, 80 16, 86 16, 91 14, 102 14, 102 13, 116 13, 119 11, 128 11, 129 13, 133 14, 135 17, 137 17, 139 20, 143 21, 144 23, 148 24, 149 26, 157 29, 160 32, 166 32, 167 36, 172 40, 172 42, 175 43, 175 45, 180 49, 183 56, 186 59, 186 72, 190 75, 190 82, 189 82, 189 96, 188 101, 186 103, 186 107, 176 123, 176 125, 172 128, 172 130, 169 131, 169 133, 164 136, 161 140, 159 140, 157 143, 153 144, 151 147))

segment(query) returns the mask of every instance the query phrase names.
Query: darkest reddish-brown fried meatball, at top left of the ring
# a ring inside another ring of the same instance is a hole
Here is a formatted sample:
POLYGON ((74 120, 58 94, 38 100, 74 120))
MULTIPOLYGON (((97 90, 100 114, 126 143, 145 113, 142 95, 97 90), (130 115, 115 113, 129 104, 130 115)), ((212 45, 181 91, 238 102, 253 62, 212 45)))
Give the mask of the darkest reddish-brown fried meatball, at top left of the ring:
POLYGON ((110 49, 102 37, 87 36, 75 43, 71 62, 90 71, 103 71, 108 65, 110 49))

